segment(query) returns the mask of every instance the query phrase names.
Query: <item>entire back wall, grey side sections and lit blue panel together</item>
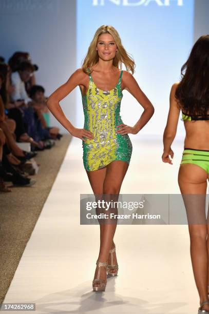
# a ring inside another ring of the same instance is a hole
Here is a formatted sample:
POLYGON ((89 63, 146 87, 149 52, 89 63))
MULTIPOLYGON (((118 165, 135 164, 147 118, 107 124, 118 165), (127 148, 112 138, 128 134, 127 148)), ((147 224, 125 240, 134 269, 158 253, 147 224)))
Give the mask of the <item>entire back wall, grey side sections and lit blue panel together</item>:
MULTIPOLYGON (((15 51, 30 52, 33 63, 39 65, 37 84, 43 85, 49 95, 81 66, 96 29, 102 24, 111 24, 134 57, 135 78, 156 108, 155 115, 141 133, 162 135, 170 86, 179 80, 180 68, 194 41, 209 32, 209 1, 182 0, 183 5, 179 6, 180 2, 1 0, 0 55, 8 61, 15 51)), ((61 105, 72 124, 83 127, 79 87, 61 105)), ((124 122, 133 125, 141 112, 138 102, 124 91, 121 105, 124 122)), ((51 124, 65 132, 53 117, 51 124)), ((178 133, 184 133, 182 122, 178 133)))

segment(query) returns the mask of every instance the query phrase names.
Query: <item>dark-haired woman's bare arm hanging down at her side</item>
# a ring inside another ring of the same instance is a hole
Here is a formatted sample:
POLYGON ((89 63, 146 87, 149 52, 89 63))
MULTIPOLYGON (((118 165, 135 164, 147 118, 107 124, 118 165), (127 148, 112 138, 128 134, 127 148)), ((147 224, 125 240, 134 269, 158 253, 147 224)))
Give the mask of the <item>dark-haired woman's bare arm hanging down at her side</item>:
POLYGON ((177 100, 175 97, 176 88, 179 83, 175 83, 172 86, 172 89, 170 90, 170 107, 167 117, 167 124, 164 130, 163 134, 163 155, 162 155, 162 161, 164 163, 172 164, 172 160, 170 160, 169 155, 173 158, 174 152, 171 149, 171 145, 175 139, 176 131, 177 131, 177 125, 179 121, 179 113, 180 109, 177 105, 177 100))

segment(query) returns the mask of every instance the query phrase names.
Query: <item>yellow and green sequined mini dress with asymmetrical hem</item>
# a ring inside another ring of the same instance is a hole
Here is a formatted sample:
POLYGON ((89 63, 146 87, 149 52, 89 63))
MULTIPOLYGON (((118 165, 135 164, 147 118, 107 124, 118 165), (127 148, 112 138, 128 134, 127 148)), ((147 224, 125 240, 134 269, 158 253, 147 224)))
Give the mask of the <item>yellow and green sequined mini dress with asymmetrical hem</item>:
POLYGON ((82 142, 83 163, 87 171, 98 170, 115 160, 130 162, 132 144, 128 134, 116 133, 117 125, 123 123, 120 106, 121 71, 119 81, 111 90, 101 90, 93 82, 89 73, 89 86, 86 95, 82 95, 84 111, 84 129, 93 133, 93 139, 82 142))

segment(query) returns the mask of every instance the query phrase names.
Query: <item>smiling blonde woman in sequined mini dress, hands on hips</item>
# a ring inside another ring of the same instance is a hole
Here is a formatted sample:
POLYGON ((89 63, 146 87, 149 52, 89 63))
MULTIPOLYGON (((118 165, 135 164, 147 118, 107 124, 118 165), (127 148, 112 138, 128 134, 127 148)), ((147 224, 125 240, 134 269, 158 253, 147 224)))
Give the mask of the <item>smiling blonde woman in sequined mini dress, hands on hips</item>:
MULTIPOLYGON (((103 25, 93 37, 82 68, 77 69, 47 101, 56 119, 71 135, 83 141, 83 163, 94 195, 119 194, 132 152, 128 133, 137 134, 154 113, 153 105, 132 76, 134 68, 135 63, 124 49, 117 30, 103 25), (122 63, 127 71, 119 70, 122 63), (82 94, 83 129, 67 120, 59 104, 77 86, 82 94), (125 125, 120 116, 123 89, 144 108, 133 127, 125 125)), ((100 224, 100 252, 92 283, 94 291, 105 290, 107 273, 110 276, 118 273, 113 243, 116 226, 100 224)))

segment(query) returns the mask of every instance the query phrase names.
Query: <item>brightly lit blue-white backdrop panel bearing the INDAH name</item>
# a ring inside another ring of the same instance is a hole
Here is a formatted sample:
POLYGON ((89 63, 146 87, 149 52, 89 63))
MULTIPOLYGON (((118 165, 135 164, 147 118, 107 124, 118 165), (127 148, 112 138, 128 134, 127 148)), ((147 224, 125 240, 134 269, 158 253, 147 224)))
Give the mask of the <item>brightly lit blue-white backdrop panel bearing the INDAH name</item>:
MULTIPOLYGON (((140 134, 162 134, 170 87, 179 81, 181 66, 193 45, 194 1, 77 0, 78 67, 94 32, 103 24, 118 30, 126 51, 136 62, 134 77, 155 107, 154 116, 140 134)), ((123 94, 122 120, 132 126, 143 108, 130 93, 123 94)), ((80 98, 78 91, 77 121, 82 126, 80 98)), ((183 134, 183 122, 179 124, 178 133, 183 134)))

